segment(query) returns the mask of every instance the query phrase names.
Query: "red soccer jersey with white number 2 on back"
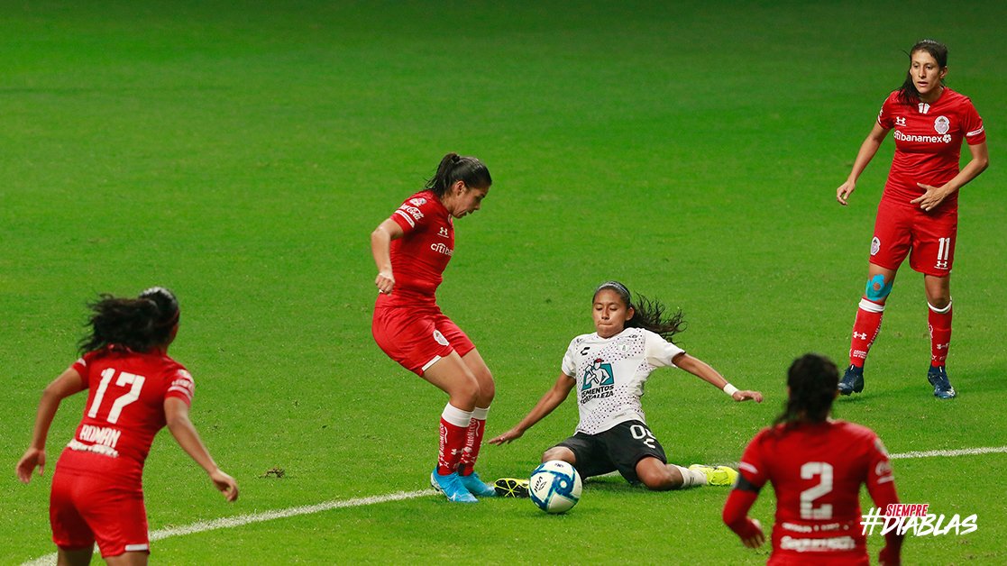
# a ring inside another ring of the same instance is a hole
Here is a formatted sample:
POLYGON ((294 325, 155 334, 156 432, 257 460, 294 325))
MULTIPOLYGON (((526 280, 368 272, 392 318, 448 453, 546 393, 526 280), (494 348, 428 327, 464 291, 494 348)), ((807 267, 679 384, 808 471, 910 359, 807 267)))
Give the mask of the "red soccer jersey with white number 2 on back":
POLYGON ((866 558, 860 485, 867 484, 882 509, 898 503, 881 440, 846 421, 763 429, 745 448, 738 469, 756 487, 772 483, 774 557, 866 558))

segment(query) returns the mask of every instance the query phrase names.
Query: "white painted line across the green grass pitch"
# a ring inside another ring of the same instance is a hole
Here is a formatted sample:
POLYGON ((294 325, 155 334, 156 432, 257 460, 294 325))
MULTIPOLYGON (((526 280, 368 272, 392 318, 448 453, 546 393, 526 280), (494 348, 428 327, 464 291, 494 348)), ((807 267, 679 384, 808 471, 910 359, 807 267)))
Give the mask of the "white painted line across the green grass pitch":
MULTIPOLYGON (((960 450, 928 450, 925 452, 903 452, 900 454, 889 454, 888 457, 893 460, 903 460, 903 459, 913 459, 913 458, 938 458, 938 457, 947 458, 955 456, 976 456, 980 454, 1004 454, 1004 453, 1007 453, 1007 446, 986 447, 986 448, 962 448, 960 450)), ((356 498, 353 500, 340 500, 340 501, 325 502, 310 506, 291 507, 277 511, 253 513, 251 515, 225 517, 223 519, 214 519, 212 521, 200 521, 198 523, 192 523, 191 525, 184 525, 181 527, 166 527, 164 529, 158 529, 157 531, 151 531, 150 541, 154 542, 154 541, 159 541, 161 539, 167 539, 170 537, 181 537, 182 535, 192 535, 195 533, 203 533, 206 531, 215 531, 218 529, 234 529, 236 527, 242 527, 244 525, 251 525, 252 523, 262 523, 264 521, 287 519, 288 517, 297 517, 300 515, 312 515, 315 513, 331 511, 333 509, 345 509, 351 507, 364 507, 376 504, 384 504, 389 502, 401 502, 404 500, 414 500, 416 498, 422 498, 424 496, 433 496, 433 494, 434 491, 431 489, 420 489, 418 491, 397 491, 395 493, 388 493, 385 496, 356 498)), ((26 562, 25 564, 48 565, 48 564, 54 564, 55 559, 56 555, 55 553, 53 553, 42 556, 36 560, 32 560, 31 562, 26 562)))

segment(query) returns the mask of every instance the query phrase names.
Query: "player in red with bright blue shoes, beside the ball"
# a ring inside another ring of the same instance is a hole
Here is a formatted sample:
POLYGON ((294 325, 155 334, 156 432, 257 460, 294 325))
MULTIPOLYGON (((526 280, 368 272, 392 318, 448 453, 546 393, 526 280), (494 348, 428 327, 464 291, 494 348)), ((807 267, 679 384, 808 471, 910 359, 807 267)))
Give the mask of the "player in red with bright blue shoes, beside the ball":
POLYGON ((494 384, 475 344, 441 312, 435 293, 454 254, 454 219, 478 210, 490 184, 481 161, 448 153, 425 190, 407 198, 371 234, 379 291, 375 340, 392 360, 449 397, 430 482, 452 502, 474 503, 475 496, 494 493, 473 470, 494 384))

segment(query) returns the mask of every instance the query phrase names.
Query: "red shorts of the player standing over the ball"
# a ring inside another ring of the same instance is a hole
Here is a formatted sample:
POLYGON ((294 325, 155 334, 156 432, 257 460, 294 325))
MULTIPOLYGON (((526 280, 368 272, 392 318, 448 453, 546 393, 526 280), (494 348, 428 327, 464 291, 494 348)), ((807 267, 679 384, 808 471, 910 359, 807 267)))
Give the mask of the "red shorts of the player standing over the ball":
POLYGON ((421 377, 452 351, 463 357, 475 349, 472 340, 436 304, 376 306, 371 331, 389 358, 421 377))

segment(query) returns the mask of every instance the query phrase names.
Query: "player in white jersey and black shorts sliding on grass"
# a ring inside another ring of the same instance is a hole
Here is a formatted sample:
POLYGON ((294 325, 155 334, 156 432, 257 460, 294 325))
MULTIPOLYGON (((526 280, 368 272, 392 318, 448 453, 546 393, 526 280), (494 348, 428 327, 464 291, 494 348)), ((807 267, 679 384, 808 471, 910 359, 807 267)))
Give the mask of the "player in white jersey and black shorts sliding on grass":
POLYGON ((503 444, 553 412, 577 389, 580 422, 573 436, 546 450, 542 461, 570 462, 584 477, 618 470, 630 483, 655 490, 693 485, 729 485, 737 471, 727 466, 668 463, 665 449, 646 426, 639 399, 658 368, 677 367, 721 389, 734 401, 762 402, 757 391, 739 391, 716 370, 689 356, 671 337, 682 328, 682 312, 665 315, 665 306, 645 297, 632 302, 629 290, 606 281, 594 292, 595 332, 570 341, 556 384, 534 409, 503 434, 503 444))

